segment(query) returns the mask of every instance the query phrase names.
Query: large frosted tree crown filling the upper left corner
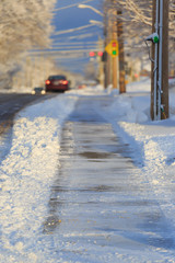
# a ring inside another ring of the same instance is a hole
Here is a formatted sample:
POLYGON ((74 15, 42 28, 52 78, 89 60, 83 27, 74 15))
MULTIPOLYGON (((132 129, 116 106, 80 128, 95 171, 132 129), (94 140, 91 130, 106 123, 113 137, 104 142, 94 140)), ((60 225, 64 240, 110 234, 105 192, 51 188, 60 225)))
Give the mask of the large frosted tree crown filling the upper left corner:
MULTIPOLYGON (((26 50, 49 46, 56 0, 0 1, 0 78, 16 72, 26 50)), ((8 76, 8 77, 7 77, 8 76)))

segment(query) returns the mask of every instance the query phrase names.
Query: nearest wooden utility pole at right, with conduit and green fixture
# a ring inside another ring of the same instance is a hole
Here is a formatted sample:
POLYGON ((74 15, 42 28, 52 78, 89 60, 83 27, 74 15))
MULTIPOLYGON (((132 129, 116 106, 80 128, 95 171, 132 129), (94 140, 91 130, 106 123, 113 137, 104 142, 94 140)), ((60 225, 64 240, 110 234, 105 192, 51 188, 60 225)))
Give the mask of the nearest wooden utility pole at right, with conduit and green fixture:
POLYGON ((151 65, 151 117, 160 121, 168 117, 168 3, 153 0, 151 65))

